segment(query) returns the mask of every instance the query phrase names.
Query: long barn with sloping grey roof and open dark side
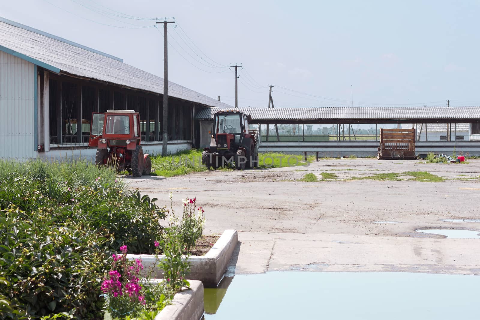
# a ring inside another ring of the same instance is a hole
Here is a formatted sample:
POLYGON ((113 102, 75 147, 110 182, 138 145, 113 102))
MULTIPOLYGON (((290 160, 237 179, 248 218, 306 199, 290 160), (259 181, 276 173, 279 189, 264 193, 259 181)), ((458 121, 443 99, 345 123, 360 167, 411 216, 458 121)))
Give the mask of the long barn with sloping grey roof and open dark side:
MULTIPOLYGON (((231 108, 168 82, 168 152, 192 147, 195 113, 231 108)), ((93 158, 92 112, 140 112, 142 144, 161 152, 163 79, 122 59, 0 18, 0 158, 93 158)))

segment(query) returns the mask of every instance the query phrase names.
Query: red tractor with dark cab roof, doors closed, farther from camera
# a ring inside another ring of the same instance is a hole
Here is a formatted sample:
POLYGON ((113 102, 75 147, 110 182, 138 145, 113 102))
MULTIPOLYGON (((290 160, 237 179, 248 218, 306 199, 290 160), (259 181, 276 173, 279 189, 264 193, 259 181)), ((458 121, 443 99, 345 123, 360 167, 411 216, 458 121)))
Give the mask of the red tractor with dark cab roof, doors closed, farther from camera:
POLYGON ((236 169, 258 166, 256 130, 249 130, 250 116, 238 110, 221 110, 215 114, 210 148, 204 148, 202 163, 210 169, 235 163, 236 169))

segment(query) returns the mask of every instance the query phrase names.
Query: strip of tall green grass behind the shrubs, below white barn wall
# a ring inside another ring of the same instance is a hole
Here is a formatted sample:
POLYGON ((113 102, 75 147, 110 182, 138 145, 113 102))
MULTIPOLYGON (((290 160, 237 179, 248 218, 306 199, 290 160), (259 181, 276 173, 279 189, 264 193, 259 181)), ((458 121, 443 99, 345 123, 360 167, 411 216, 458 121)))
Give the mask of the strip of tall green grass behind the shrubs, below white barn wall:
POLYGON ((127 183, 118 177, 116 170, 107 166, 96 166, 86 160, 48 162, 41 159, 16 161, 0 159, 0 178, 9 175, 51 180, 56 184, 68 184, 71 188, 116 185, 125 188, 127 183))

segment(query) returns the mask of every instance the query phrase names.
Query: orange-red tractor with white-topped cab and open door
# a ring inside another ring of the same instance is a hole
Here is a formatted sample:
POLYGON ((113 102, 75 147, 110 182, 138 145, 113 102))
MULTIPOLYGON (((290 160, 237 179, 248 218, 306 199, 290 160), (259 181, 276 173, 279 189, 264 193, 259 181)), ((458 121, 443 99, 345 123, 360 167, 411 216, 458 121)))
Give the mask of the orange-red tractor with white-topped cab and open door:
MULTIPOLYGON (((147 130, 148 132, 148 130, 147 130)), ((152 171, 152 161, 140 145, 140 115, 133 110, 93 113, 89 147, 97 147, 95 163, 128 170, 133 177, 152 171)))

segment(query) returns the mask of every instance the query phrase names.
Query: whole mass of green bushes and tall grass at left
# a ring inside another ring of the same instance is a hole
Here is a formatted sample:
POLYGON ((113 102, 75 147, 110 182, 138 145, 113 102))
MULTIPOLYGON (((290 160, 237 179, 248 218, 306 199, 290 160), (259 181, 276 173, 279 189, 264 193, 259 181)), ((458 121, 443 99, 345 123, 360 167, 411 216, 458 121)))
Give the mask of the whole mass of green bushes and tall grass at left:
POLYGON ((124 187, 82 161, 0 160, 0 319, 103 318, 108 255, 154 253, 163 235, 166 210, 124 187))

